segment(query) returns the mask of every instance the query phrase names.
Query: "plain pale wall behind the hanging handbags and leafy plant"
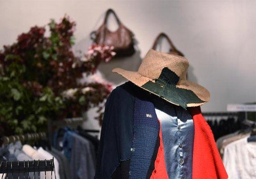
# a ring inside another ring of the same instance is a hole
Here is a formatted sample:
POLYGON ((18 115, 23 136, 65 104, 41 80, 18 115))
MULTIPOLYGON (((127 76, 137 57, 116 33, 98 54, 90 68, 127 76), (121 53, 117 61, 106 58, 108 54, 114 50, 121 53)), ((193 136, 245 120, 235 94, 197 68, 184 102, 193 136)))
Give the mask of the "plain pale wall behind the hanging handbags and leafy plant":
POLYGON ((75 49, 86 51, 108 8, 135 33, 142 58, 159 32, 170 35, 191 81, 211 92, 203 111, 256 101, 256 1, 0 1, 0 47, 66 13, 77 22, 75 49))

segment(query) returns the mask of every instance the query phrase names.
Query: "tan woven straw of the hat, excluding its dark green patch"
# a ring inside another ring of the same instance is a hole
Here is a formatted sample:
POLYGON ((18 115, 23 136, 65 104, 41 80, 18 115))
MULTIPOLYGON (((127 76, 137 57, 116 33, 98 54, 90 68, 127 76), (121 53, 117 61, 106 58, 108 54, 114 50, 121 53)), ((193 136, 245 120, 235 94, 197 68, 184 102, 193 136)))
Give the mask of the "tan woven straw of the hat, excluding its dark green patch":
MULTIPOLYGON (((177 88, 191 90, 192 92, 195 93, 195 95, 198 98, 204 101, 200 103, 195 102, 195 103, 187 104, 187 107, 196 107, 208 102, 210 100, 210 93, 203 86, 200 86, 191 81, 187 81, 186 74, 187 74, 188 66, 189 66, 188 60, 185 57, 178 56, 178 55, 170 55, 167 53, 154 51, 151 49, 148 51, 147 55, 145 56, 142 64, 139 67, 138 72, 131 72, 121 68, 115 68, 112 71, 122 75, 127 80, 133 82, 135 85, 142 87, 148 81, 155 82, 155 80, 160 77, 162 70, 164 68, 169 68, 179 77, 179 81, 176 85, 177 88)), ((148 90, 145 88, 143 89, 148 90)), ((154 93, 154 91, 150 91, 150 90, 148 91, 153 94, 156 94, 154 93)), ((160 97, 165 99, 164 96, 160 96, 160 97)), ((176 104, 176 105, 179 105, 179 104, 176 104)))

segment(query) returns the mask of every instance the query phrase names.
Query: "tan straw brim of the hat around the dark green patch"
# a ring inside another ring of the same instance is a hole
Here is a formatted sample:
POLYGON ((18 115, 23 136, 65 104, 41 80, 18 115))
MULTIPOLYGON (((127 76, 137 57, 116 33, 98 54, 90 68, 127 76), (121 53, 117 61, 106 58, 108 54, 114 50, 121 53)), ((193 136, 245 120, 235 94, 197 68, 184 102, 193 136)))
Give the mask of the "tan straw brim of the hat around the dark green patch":
MULTIPOLYGON (((168 101, 172 104, 182 106, 178 102, 174 102, 173 100, 169 100, 169 99, 165 98, 165 96, 163 96, 163 95, 157 94, 154 90, 151 91, 151 90, 148 90, 147 88, 145 88, 145 84, 148 83, 149 81, 153 82, 154 85, 159 86, 157 83, 155 83, 154 79, 145 77, 145 76, 141 75, 139 72, 132 72, 132 71, 124 70, 121 68, 115 68, 112 70, 112 72, 116 72, 117 74, 120 74, 122 77, 125 77, 127 80, 131 81, 135 85, 143 88, 144 90, 149 91, 150 93, 153 93, 153 94, 165 99, 166 101, 168 101)), ((195 94, 196 97, 198 97, 200 99, 200 102, 198 102, 198 100, 197 100, 197 102, 187 103, 186 104, 187 107, 201 106, 210 100, 210 93, 208 92, 208 90, 206 90, 203 86, 193 83, 191 81, 180 80, 178 82, 178 84, 176 85, 176 87, 177 87, 177 89, 190 90, 191 92, 193 92, 195 94)), ((177 97, 174 97, 174 98, 177 98, 177 97)), ((185 98, 186 98, 186 96, 185 96, 185 98)))

